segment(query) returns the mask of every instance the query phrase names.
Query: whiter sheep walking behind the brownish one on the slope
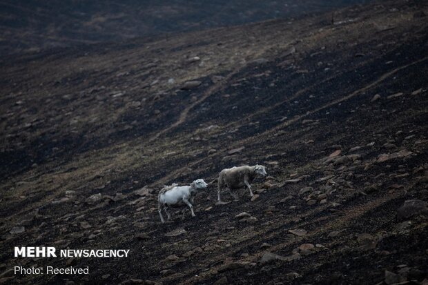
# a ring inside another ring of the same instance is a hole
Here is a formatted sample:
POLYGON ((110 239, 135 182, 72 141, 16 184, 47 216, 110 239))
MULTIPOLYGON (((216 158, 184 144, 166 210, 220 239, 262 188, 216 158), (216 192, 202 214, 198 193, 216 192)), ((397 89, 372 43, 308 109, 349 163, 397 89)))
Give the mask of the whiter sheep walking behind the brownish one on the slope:
POLYGON ((193 198, 197 193, 197 190, 206 188, 208 184, 205 183, 204 179, 197 179, 192 182, 190 186, 177 186, 177 184, 172 184, 171 186, 165 186, 162 190, 159 191, 159 216, 162 223, 165 222, 164 217, 162 216, 162 209, 165 211, 168 219, 171 219, 171 215, 168 213, 169 207, 179 207, 179 206, 188 206, 191 208, 192 217, 195 217, 193 212, 193 198))

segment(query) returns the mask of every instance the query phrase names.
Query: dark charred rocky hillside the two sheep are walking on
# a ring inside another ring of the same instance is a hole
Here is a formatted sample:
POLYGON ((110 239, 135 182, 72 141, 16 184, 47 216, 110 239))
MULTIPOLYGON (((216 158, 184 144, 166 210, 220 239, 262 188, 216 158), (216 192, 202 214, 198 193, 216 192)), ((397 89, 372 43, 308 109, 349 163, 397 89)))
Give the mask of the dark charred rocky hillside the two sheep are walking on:
POLYGON ((427 1, 385 1, 333 23, 329 13, 3 58, 0 281, 419 284, 427 12, 427 1), (217 206, 213 184, 197 217, 175 210, 159 223, 160 186, 256 163, 270 176, 255 199, 242 190, 217 206), (14 259, 17 245, 130 257, 14 259), (90 275, 14 276, 15 265, 90 275))

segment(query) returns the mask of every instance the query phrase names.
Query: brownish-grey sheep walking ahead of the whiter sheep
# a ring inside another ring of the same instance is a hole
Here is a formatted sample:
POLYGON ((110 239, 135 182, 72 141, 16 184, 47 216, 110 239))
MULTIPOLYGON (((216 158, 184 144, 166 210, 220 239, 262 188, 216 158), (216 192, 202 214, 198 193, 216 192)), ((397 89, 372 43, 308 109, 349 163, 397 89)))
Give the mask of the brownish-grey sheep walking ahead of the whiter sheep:
MULTIPOLYGON (((240 166, 233 168, 226 168, 220 171, 220 175, 218 177, 218 189, 217 196, 218 202, 217 204, 225 204, 220 199, 220 190, 226 186, 231 189, 240 188, 242 186, 246 186, 250 190, 250 195, 253 197, 253 191, 251 191, 251 182, 254 180, 256 175, 266 176, 266 168, 261 165, 255 166, 240 166)), ((231 192, 232 193, 232 192, 231 192)))

